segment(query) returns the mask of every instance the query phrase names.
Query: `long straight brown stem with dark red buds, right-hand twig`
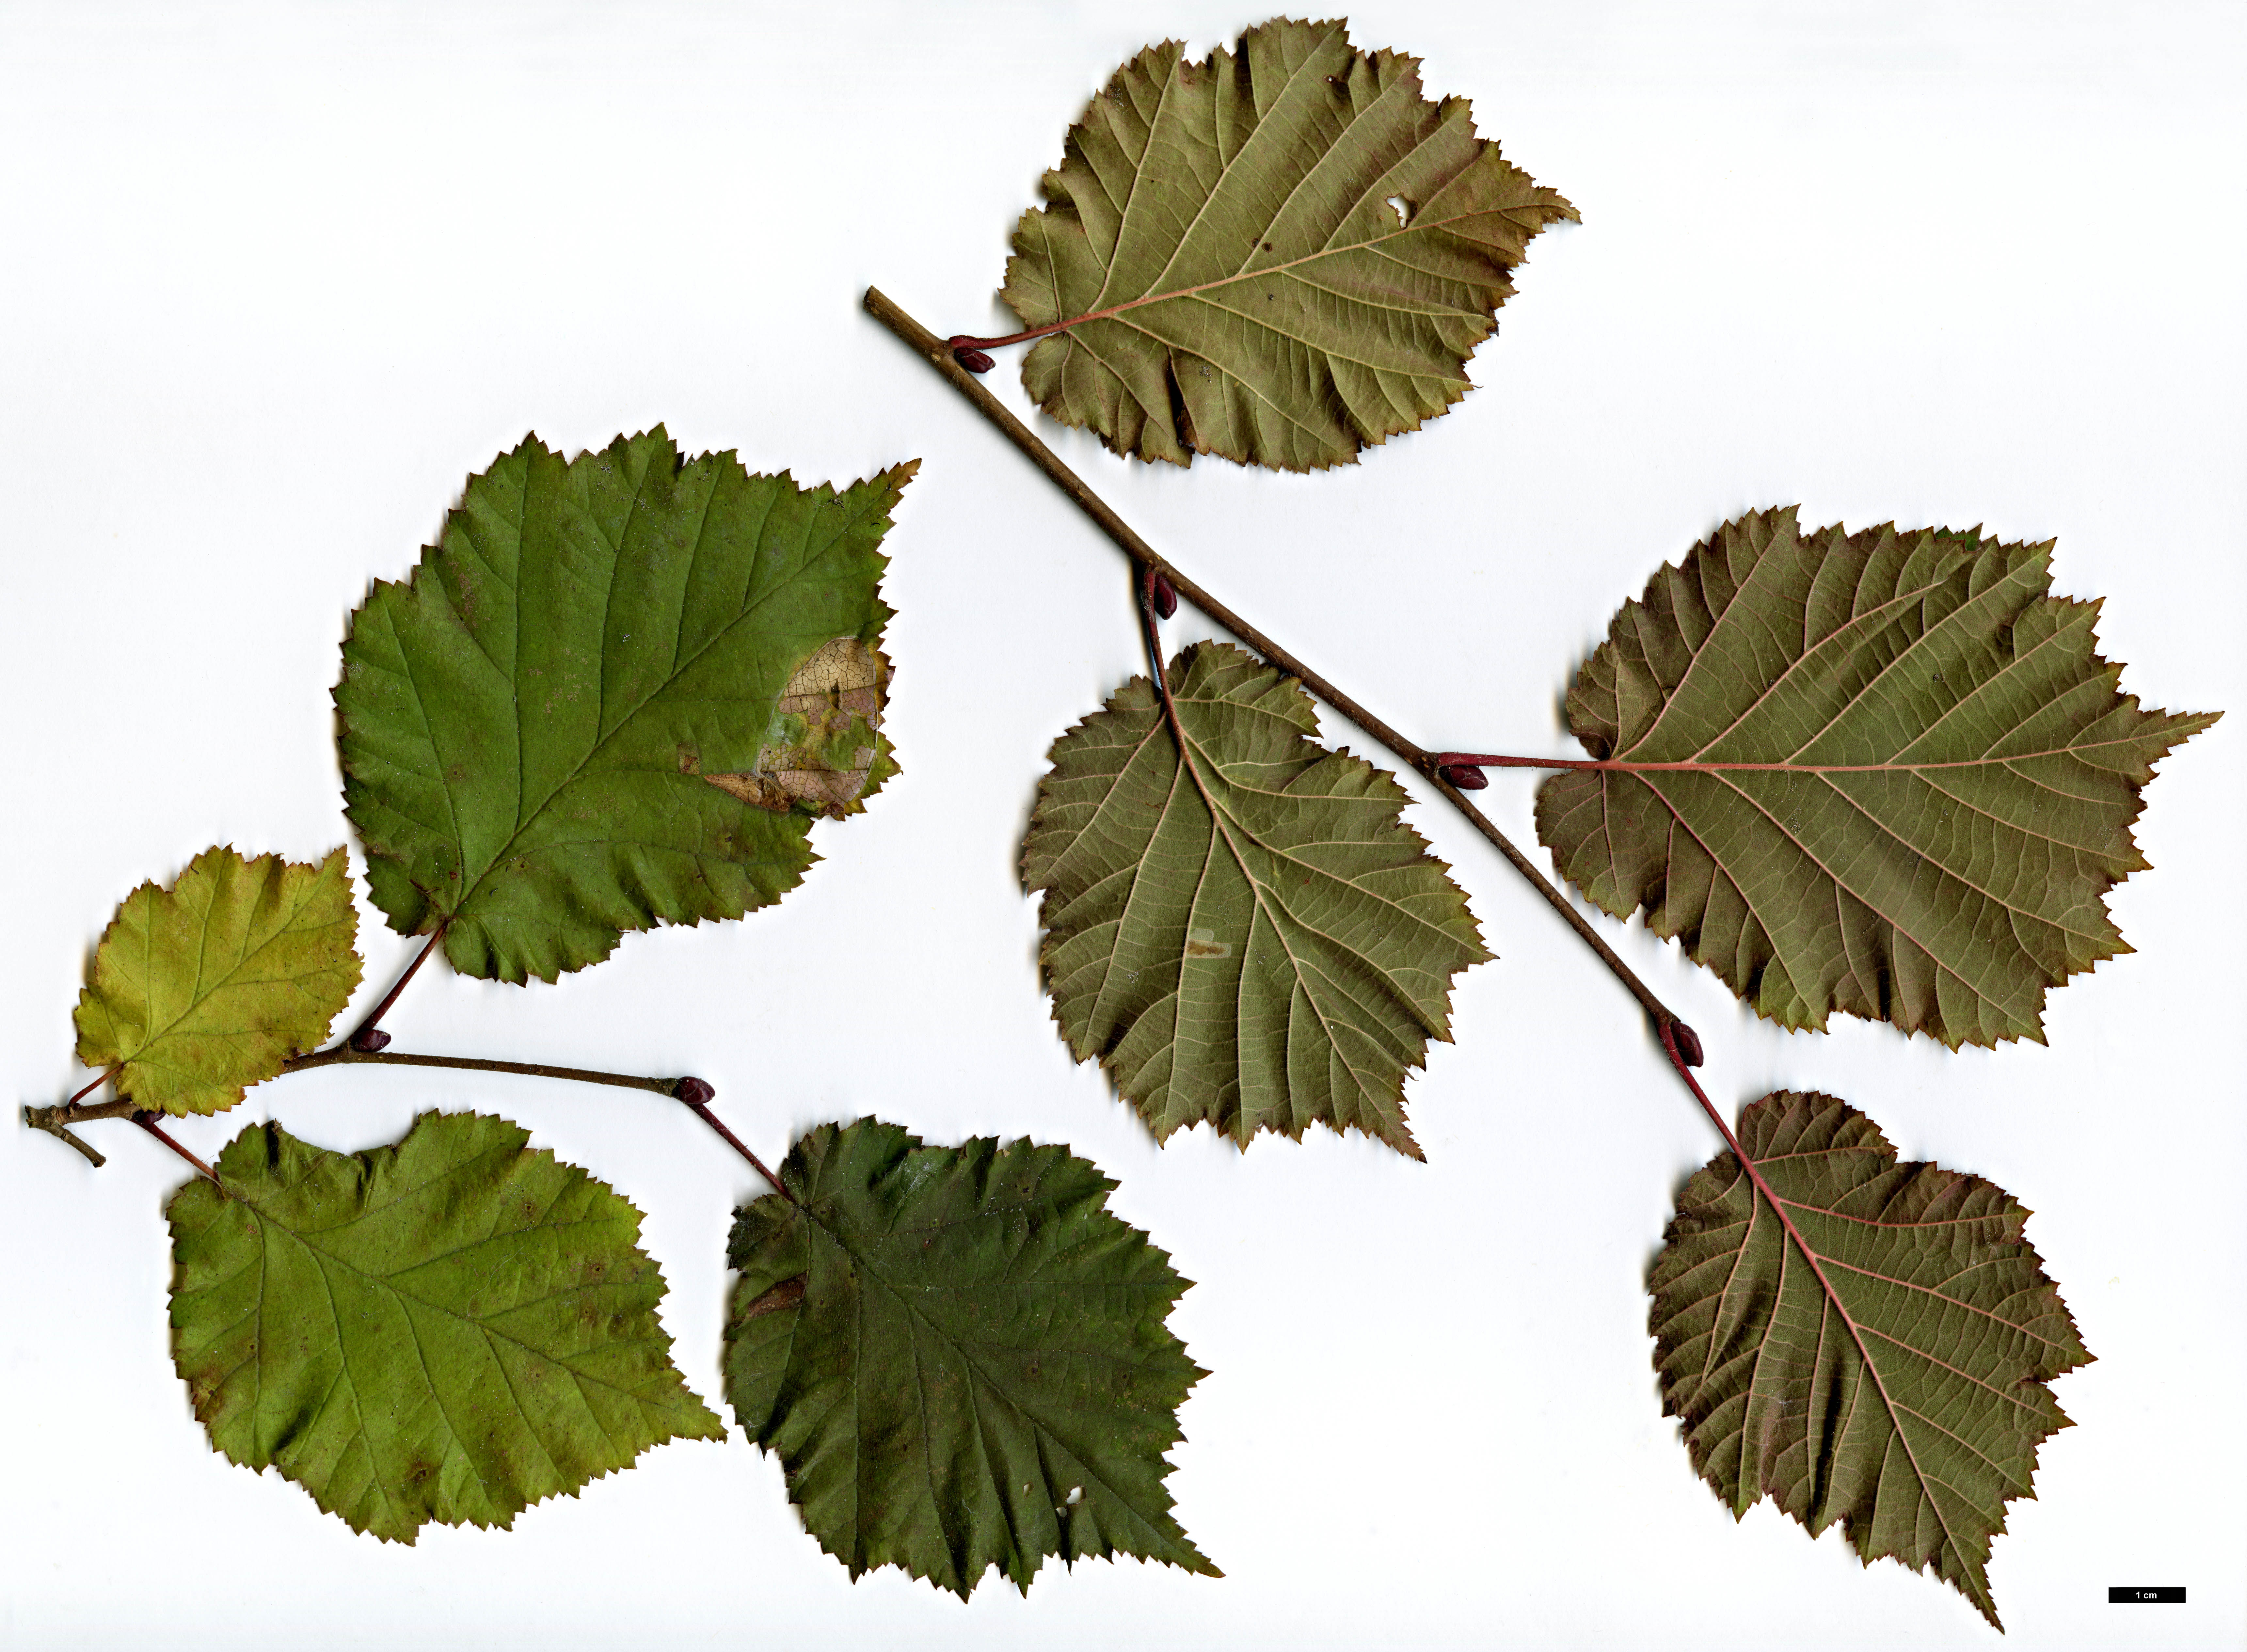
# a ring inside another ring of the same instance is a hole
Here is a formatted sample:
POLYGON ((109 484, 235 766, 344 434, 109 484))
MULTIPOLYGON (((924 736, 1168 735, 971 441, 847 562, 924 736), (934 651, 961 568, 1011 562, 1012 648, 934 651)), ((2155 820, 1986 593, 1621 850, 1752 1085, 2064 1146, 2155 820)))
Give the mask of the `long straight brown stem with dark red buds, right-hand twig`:
MULTIPOLYGON (((1568 897, 1562 895, 1553 886, 1553 881, 1546 879, 1546 874, 1539 872, 1537 865, 1521 850, 1517 850, 1503 832, 1499 832, 1499 827, 1490 820, 1490 816, 1485 816, 1481 809, 1467 802, 1461 789, 1438 773, 1440 757, 1452 757, 1456 753, 1434 753, 1420 746, 1418 742, 1407 739, 1395 728, 1375 717, 1371 710, 1359 706, 1350 695, 1335 688, 1335 683, 1330 683, 1326 677, 1314 672, 1301 659, 1290 654, 1285 647, 1281 647, 1270 636, 1249 625, 1245 618, 1225 607, 1218 598, 1213 598, 1207 589, 1202 589, 1198 580, 1180 571, 1175 562, 1159 555, 1155 546, 1150 546, 1146 539, 1132 533, 1130 524, 1126 524, 1124 517, 1119 517, 1108 506, 1106 499, 1101 499, 1097 492, 1092 492, 1092 488, 1085 485, 1083 476, 1079 476, 1074 470, 1061 463, 1054 450, 1047 447, 1043 441, 1038 441, 1036 432, 1031 432, 1020 418, 1016 418, 991 391, 986 391, 982 384, 975 382, 973 373, 968 373, 964 366, 959 366, 959 362, 953 360, 950 339, 939 339, 935 333, 924 328, 906 310, 901 310, 888 294, 883 294, 881 288, 865 290, 865 308, 876 321, 881 321, 899 339, 903 339, 915 355, 919 355, 924 362, 937 369, 937 373, 941 373, 955 391, 966 396, 968 402, 975 407, 975 411, 982 414, 986 420, 991 420, 991 425, 1007 441, 1011 441, 1018 450, 1022 450, 1029 463, 1043 470, 1045 476, 1056 488, 1061 488, 1061 492, 1065 492, 1076 503, 1079 510, 1092 517, 1094 526, 1099 526, 1099 530, 1106 533, 1117 544, 1117 548, 1124 551, 1124 555, 1132 557, 1137 569, 1144 571, 1141 580, 1150 573, 1162 573, 1166 580, 1171 580, 1171 584, 1177 589, 1182 598, 1193 602, 1193 607, 1202 609, 1202 614, 1207 614, 1227 632, 1231 632, 1252 650, 1256 650, 1256 654, 1261 654, 1270 665, 1276 665, 1279 670, 1299 679, 1303 688, 1308 688, 1312 695, 1323 699, 1337 712, 1341 712, 1353 724, 1364 728, 1368 735, 1373 735, 1373 739, 1386 746, 1389 753, 1398 757, 1398 762, 1413 769, 1420 778, 1425 778, 1431 787, 1436 787, 1436 791, 1440 791, 1445 800, 1452 802, 1452 807, 1456 807, 1463 816, 1467 816, 1467 820, 1474 825, 1476 832, 1490 838, 1490 843, 1499 850, 1499 854, 1505 856, 1508 865, 1512 865, 1523 879, 1528 879, 1530 888, 1544 897, 1546 906, 1559 913, 1562 922, 1566 922, 1568 928, 1575 931, 1577 940, 1591 946, 1598 960, 1607 964, 1609 973, 1613 973, 1613 978, 1622 982, 1625 991, 1629 991, 1631 998, 1636 998, 1638 1005, 1654 1018, 1654 1025, 1676 1027, 1679 1032, 1683 1032, 1683 1047, 1690 1054, 1699 1056, 1701 1045, 1699 1038, 1694 1038, 1692 1027, 1679 1020, 1676 1014, 1667 1005, 1663 1005, 1661 998, 1654 996, 1654 989, 1647 987, 1643 980, 1638 980, 1638 975, 1631 971, 1629 964, 1616 957, 1616 951, 1604 940, 1600 940, 1600 933, 1591 926, 1591 922, 1575 910, 1568 897)), ((968 344, 1004 344, 1004 342, 1007 339, 968 339, 968 344)), ((1141 607, 1144 602, 1146 598, 1141 596, 1141 607)), ((1164 683, 1162 661, 1153 661, 1153 670, 1155 670, 1155 683, 1157 688, 1162 688, 1164 683)), ((1164 690, 1164 704, 1168 706, 1166 690, 1164 690)), ((1177 728, 1173 712, 1173 735, 1175 733, 1177 728)), ((1562 762, 1562 764, 1537 764, 1537 766, 1577 766, 1577 764, 1562 762)))

